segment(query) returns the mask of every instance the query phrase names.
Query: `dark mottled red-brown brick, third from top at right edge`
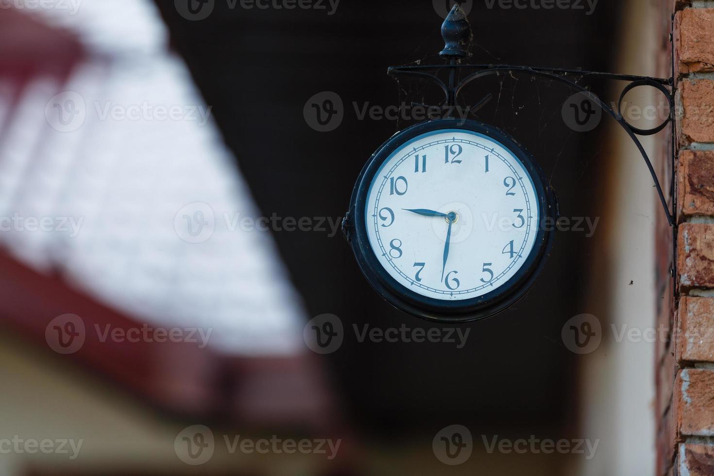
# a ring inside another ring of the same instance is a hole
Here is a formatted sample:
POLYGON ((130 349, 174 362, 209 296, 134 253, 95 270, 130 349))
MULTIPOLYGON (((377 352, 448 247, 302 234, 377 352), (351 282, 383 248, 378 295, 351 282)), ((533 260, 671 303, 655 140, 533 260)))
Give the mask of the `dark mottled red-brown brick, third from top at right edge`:
POLYGON ((680 217, 714 216, 714 151, 679 154, 677 203, 680 217))

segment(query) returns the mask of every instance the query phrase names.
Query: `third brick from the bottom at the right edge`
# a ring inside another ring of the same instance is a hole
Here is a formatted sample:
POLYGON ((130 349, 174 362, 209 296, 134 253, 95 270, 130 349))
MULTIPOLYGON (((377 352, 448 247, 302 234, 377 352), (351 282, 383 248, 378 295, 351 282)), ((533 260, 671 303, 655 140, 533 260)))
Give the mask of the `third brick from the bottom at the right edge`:
POLYGON ((676 342, 680 362, 714 362, 714 298, 683 296, 676 342))

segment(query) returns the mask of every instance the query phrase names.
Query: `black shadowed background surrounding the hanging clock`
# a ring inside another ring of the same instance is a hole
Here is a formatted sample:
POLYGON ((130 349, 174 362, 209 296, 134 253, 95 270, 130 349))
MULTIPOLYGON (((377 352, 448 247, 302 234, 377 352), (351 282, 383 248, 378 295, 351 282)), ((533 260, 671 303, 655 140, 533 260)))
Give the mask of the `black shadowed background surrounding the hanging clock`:
MULTIPOLYGON (((359 171, 408 121, 358 119, 356 108, 433 103, 438 96, 386 74, 391 65, 436 62, 443 47, 441 17, 430 1, 343 0, 328 10, 231 9, 216 1, 203 21, 188 21, 172 2, 156 2, 171 41, 213 105, 223 136, 238 157, 263 215, 343 216, 359 171), (342 99, 336 130, 314 131, 303 106, 321 91, 342 99), (431 102, 429 102, 431 101, 431 102), (355 106, 355 104, 357 106, 355 106)), ((446 9, 446 1, 443 8, 446 9)), ((476 1, 469 15, 471 61, 610 71, 619 2, 585 9, 488 9, 476 1)), ((620 71, 625 72, 625 71, 620 71)), ((594 88, 601 84, 590 82, 594 88)), ((511 133, 528 148, 558 193, 562 216, 588 216, 603 193, 598 176, 600 128, 574 133, 560 108, 573 91, 528 76, 473 83, 464 105, 488 93, 478 118, 511 133)), ((604 219, 604 218, 603 218, 604 219)), ((363 279, 338 233, 276 232, 283 260, 310 315, 333 313, 352 325, 433 326, 391 308, 363 279)), ((473 431, 492 425, 568 425, 578 395, 573 354, 560 328, 588 287, 592 249, 584 233, 559 233, 533 289, 513 308, 466 326, 466 347, 450 343, 357 343, 321 357, 367 432, 415 427, 433 432, 458 422, 473 431)), ((260 316, 256 316, 259 319, 260 316)))

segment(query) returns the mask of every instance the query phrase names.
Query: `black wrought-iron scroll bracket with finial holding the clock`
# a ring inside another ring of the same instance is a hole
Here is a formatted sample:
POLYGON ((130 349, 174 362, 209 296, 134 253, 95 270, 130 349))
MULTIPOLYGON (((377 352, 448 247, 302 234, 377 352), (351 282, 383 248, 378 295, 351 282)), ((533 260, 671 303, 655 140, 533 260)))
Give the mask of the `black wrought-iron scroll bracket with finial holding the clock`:
MULTIPOLYGON (((612 74, 602 73, 597 71, 583 71, 581 69, 559 69, 559 68, 536 68, 533 66, 513 66, 508 64, 462 64, 461 61, 470 56, 468 48, 473 38, 471 33, 471 25, 468 23, 466 14, 459 4, 454 4, 446 19, 441 25, 441 36, 444 39, 445 47, 439 55, 447 61, 447 64, 441 65, 408 65, 408 66, 391 66, 387 73, 391 76, 410 75, 418 78, 427 79, 435 83, 441 88, 444 93, 444 101, 441 106, 447 106, 449 110, 453 110, 456 106, 458 94, 461 90, 471 83, 485 76, 498 75, 503 73, 508 74, 526 74, 530 76, 540 76, 545 79, 551 79, 563 83, 575 91, 587 94, 596 106, 607 112, 615 121, 620 124, 623 130, 630 136, 630 139, 635 143, 642 158, 647 164, 650 175, 657 188, 657 193, 662 203, 662 207, 667 216, 667 221, 670 226, 675 224, 675 200, 672 200, 672 211, 670 211, 667 200, 665 199, 660 186, 660 181, 652 166, 652 162, 648 157, 645 149, 640 143, 637 136, 651 136, 652 134, 662 131, 668 123, 672 123, 671 140, 674 144, 675 140, 675 121, 674 121, 674 80, 673 78, 653 78, 649 76, 634 76, 630 74, 612 74), (446 69, 448 71, 448 81, 443 81, 438 73, 446 69), (461 72, 466 71, 466 76, 462 76, 461 72), (615 81, 628 81, 628 84, 623 88, 618 100, 617 109, 613 109, 604 101, 602 101, 595 93, 580 86, 577 81, 584 78, 600 78, 610 79, 615 81), (628 91, 638 86, 652 86, 662 92, 669 103, 669 114, 665 121, 650 129, 640 129, 632 126, 623 117, 621 106, 625 94, 628 91)), ((483 103, 483 101, 481 101, 483 103)), ((480 103, 481 104, 481 103, 480 103)), ((477 106, 478 108, 478 106, 477 106)), ((673 149, 674 150, 674 149, 673 149)), ((674 152, 673 152, 674 153, 674 152)), ((672 158, 672 161, 674 158, 672 158)), ((672 192, 674 188, 672 187, 672 192)))

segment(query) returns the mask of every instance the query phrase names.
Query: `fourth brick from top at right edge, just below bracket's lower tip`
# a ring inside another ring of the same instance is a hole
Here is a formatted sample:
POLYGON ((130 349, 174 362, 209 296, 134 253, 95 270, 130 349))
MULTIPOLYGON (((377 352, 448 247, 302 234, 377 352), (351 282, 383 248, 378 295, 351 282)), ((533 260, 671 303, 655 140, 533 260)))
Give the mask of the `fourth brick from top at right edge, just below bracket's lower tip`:
POLYGON ((682 223, 679 226, 677 269, 682 288, 714 287, 714 225, 682 223))

